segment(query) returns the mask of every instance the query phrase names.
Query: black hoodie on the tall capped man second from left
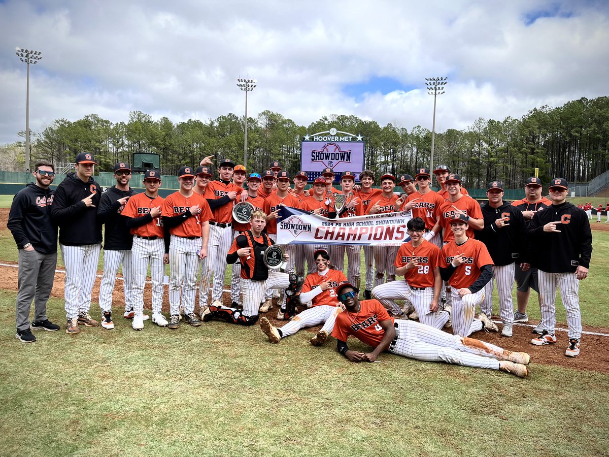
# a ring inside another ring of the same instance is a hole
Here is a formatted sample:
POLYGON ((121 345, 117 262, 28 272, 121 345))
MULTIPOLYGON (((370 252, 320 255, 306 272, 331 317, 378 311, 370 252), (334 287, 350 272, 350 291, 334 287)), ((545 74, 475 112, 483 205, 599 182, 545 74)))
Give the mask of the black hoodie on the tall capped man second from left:
POLYGON ((76 173, 69 173, 57 186, 51 216, 59 225, 59 242, 66 246, 84 246, 102 243, 102 225, 97 221, 97 207, 102 188, 90 177, 82 182, 76 173), (82 199, 93 196, 93 205, 87 207, 82 199))

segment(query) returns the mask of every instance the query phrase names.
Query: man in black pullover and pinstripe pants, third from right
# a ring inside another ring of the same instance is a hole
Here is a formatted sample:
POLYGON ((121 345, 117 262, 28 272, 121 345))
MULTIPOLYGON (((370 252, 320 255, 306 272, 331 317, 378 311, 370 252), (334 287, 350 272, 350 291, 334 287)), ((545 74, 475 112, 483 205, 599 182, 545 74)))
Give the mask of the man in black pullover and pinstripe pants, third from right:
POLYGON ((499 181, 488 183, 488 202, 482 207, 484 229, 476 232, 476 239, 485 244, 493 260, 493 275, 484 286, 485 297, 481 311, 486 316, 492 314, 493 278, 495 278, 499 294, 499 316, 503 321, 501 335, 511 337, 514 323, 512 289, 515 262, 522 262, 525 270, 529 268, 529 264, 525 263, 526 225, 524 225, 523 213, 509 202, 505 202, 503 195, 503 186, 499 181))

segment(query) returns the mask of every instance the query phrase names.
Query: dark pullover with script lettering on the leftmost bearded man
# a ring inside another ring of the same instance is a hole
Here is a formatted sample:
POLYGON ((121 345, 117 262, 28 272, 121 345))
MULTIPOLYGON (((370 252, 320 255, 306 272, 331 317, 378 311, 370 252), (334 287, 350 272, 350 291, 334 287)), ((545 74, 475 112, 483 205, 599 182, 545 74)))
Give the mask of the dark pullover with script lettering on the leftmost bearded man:
POLYGON ((44 190, 35 183, 29 183, 13 197, 6 226, 13 234, 18 249, 32 243, 38 252, 57 252, 57 225, 51 221, 54 194, 51 188, 44 190))

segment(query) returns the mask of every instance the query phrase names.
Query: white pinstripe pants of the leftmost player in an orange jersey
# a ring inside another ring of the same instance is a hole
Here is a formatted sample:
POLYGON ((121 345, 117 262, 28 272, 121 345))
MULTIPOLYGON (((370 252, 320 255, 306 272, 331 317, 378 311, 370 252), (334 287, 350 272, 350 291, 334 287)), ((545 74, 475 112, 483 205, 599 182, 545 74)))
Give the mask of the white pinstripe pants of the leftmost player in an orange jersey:
POLYGON ((133 312, 136 315, 144 314, 144 287, 146 287, 146 274, 149 264, 152 279, 152 313, 160 313, 163 308, 164 253, 165 242, 163 238, 142 239, 133 236, 131 263, 133 269, 133 312))

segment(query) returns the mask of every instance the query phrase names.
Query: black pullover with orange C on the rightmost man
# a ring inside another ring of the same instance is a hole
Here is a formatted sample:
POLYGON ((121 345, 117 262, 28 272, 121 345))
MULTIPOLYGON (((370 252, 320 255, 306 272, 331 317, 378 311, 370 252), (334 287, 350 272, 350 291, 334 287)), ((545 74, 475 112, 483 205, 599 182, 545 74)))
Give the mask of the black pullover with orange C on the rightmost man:
POLYGON ((590 268, 592 231, 586 212, 565 202, 550 205, 535 213, 529 224, 530 263, 548 273, 573 273, 577 266, 590 268), (548 222, 557 224, 560 233, 544 232, 548 222))

